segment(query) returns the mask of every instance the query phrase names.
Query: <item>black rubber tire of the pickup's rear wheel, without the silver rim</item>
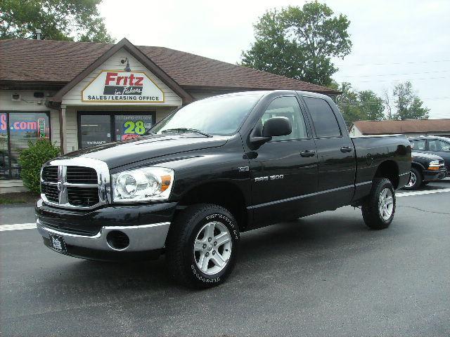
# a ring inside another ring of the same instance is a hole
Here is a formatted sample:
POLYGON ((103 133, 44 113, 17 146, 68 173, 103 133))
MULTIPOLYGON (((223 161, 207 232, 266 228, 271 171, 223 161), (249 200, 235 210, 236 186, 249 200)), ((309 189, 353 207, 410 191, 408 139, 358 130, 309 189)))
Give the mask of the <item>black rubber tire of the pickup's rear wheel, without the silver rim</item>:
POLYGON ((386 178, 375 178, 372 183, 371 194, 363 201, 361 210, 364 223, 373 230, 383 230, 392 223, 395 214, 395 191, 392 183, 386 178), (383 218, 380 212, 380 196, 385 189, 392 194, 392 213, 389 218, 383 218))

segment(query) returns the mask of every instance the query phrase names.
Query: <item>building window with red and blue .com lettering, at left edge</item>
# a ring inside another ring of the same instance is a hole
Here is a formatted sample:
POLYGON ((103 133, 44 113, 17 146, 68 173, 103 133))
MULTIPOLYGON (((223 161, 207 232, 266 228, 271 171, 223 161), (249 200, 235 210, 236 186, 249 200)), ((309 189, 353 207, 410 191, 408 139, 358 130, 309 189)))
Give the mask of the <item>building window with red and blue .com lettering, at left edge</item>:
POLYGON ((50 131, 49 112, 0 112, 0 179, 20 179, 20 151, 50 131))

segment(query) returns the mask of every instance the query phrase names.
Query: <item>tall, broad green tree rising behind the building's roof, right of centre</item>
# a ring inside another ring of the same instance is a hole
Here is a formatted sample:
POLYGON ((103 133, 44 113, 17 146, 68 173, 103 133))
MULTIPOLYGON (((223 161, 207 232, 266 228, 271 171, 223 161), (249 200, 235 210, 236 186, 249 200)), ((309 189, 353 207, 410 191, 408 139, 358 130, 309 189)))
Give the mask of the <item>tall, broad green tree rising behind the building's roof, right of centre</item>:
POLYGON ((352 48, 347 16, 333 14, 317 1, 267 11, 254 25, 255 43, 243 51, 241 65, 329 86, 338 71, 331 58, 352 48))

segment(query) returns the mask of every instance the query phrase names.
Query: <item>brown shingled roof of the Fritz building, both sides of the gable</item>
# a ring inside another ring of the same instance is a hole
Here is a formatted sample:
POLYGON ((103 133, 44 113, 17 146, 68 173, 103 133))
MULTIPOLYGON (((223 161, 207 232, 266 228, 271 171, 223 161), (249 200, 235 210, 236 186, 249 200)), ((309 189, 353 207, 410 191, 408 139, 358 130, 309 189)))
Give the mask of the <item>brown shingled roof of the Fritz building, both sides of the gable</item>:
MULTIPOLYGON (((0 41, 0 84, 64 86, 107 52, 112 44, 10 39, 0 41)), ((184 89, 289 89, 338 91, 164 47, 137 46, 184 89)))

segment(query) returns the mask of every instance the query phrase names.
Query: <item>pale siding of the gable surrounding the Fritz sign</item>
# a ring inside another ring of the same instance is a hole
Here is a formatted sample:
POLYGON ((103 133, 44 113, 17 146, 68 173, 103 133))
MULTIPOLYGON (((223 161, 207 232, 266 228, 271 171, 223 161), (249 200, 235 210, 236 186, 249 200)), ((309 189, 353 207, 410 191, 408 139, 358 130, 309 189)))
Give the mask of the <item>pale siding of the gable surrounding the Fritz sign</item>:
POLYGON ((165 102, 164 103, 122 103, 127 106, 129 105, 139 105, 139 106, 180 106, 182 104, 182 100, 179 97, 179 95, 176 95, 174 91, 172 91, 171 88, 169 88, 164 82, 162 82, 158 77, 155 76, 152 72, 150 72, 146 67, 141 65, 140 62, 138 62, 133 56, 131 56, 130 53, 125 51, 124 49, 121 49, 115 55, 113 55, 111 58, 103 62, 103 64, 98 67, 94 72, 91 72, 87 77, 85 77, 82 81, 79 82, 74 88, 72 88, 68 93, 66 93, 63 97, 62 105, 89 105, 89 106, 95 106, 95 105, 103 105, 103 106, 111 106, 111 105, 117 105, 117 103, 90 103, 90 102, 82 102, 82 90, 89 84, 90 81, 95 79, 98 74, 102 70, 123 70, 124 65, 120 65, 120 59, 121 58, 128 58, 129 65, 131 67, 131 70, 136 72, 145 72, 146 75, 164 92, 165 96, 165 102))

